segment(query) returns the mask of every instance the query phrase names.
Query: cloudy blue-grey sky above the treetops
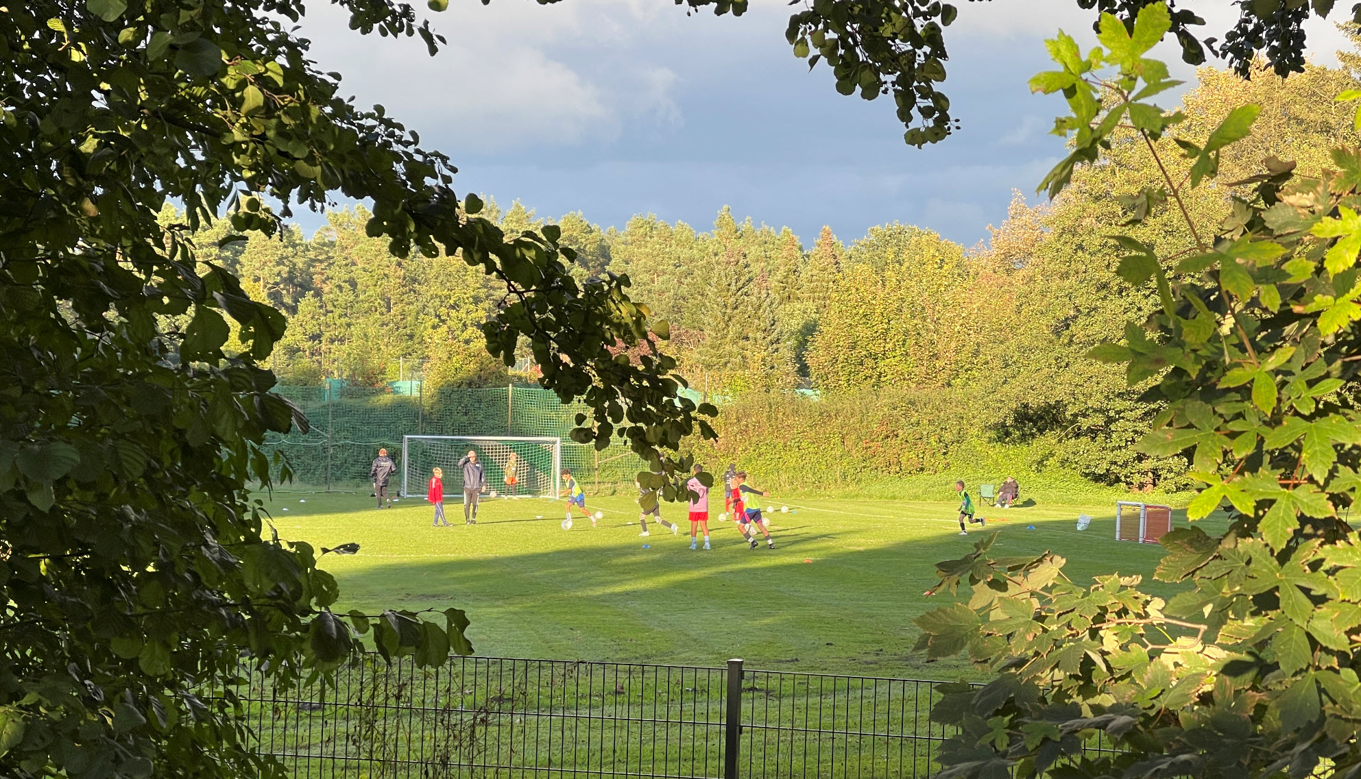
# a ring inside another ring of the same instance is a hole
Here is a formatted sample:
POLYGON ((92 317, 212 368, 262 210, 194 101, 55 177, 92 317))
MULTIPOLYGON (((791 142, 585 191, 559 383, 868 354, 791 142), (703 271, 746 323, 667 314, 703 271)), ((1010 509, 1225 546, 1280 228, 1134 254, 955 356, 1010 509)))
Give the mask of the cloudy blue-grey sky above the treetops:
MULTIPOLYGON (((1207 34, 1232 23, 1228 0, 1184 4, 1207 34)), ((740 18, 687 16, 670 0, 452 0, 442 14, 421 3, 448 38, 434 57, 415 38, 359 35, 312 3, 302 35, 359 105, 382 103, 453 159, 460 194, 520 200, 539 216, 580 211, 604 227, 655 213, 708 230, 729 205, 804 245, 823 224, 849 242, 902 222, 972 246, 1006 218, 1013 190, 1034 201, 1063 155, 1048 135, 1063 99, 1026 82, 1052 69, 1045 38, 1062 27, 1090 45, 1094 18, 1074 0, 957 5, 945 91, 964 126, 923 150, 904 144, 890 98, 842 97, 826 67, 795 58, 791 8, 773 0, 740 18)), ((1311 23, 1315 61, 1335 63, 1342 45, 1331 24, 1311 23)), ((1190 86, 1176 50, 1155 53, 1190 86)))

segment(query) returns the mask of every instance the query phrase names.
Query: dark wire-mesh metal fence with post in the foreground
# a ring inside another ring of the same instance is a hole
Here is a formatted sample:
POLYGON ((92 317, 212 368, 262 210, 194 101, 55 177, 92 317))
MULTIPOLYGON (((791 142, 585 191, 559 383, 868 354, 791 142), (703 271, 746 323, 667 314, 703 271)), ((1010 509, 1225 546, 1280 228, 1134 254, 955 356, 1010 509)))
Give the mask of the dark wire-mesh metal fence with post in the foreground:
POLYGON ((930 776, 940 682, 727 668, 369 657, 314 684, 238 691, 295 779, 930 776))

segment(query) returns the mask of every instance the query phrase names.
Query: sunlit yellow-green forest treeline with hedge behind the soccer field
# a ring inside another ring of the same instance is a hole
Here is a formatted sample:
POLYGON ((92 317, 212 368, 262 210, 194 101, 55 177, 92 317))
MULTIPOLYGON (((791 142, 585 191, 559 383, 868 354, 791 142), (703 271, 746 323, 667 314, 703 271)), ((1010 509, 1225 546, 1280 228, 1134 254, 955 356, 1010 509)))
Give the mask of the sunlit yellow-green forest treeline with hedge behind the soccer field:
MULTIPOLYGON (((1183 126, 1203 137, 1232 107, 1259 103, 1253 135, 1225 152, 1221 179, 1247 178, 1271 155, 1317 173, 1327 150, 1353 133, 1334 97, 1361 87, 1361 57, 1339 58, 1285 80, 1202 68, 1183 97, 1183 126)), ((825 227, 806 242, 728 208, 708 230, 652 215, 602 228, 583 213, 544 219, 519 203, 490 211, 512 232, 558 224, 583 277, 626 273, 633 298, 671 324, 666 349, 691 386, 729 398, 716 454, 780 481, 860 484, 987 462, 1168 489, 1185 462, 1132 449, 1157 408, 1119 368, 1083 356, 1153 309, 1151 288, 1115 279, 1119 253, 1106 235, 1128 197, 1157 181, 1134 136, 1124 137, 1056 201, 1017 194, 973 247, 900 223, 851 242, 825 227)), ((1199 188, 1184 205, 1213 234, 1234 218, 1233 194, 1199 188)), ((255 235, 210 258, 289 317, 271 358, 280 382, 380 385, 399 366, 421 366, 430 386, 510 381, 479 330, 501 302, 497 285, 456 257, 392 257, 365 235, 365 220, 362 209, 331 212, 312 237, 255 235)), ((1188 238, 1170 215, 1132 230, 1160 252, 1188 238)), ((225 226, 210 228, 200 246, 223 235, 225 226)))

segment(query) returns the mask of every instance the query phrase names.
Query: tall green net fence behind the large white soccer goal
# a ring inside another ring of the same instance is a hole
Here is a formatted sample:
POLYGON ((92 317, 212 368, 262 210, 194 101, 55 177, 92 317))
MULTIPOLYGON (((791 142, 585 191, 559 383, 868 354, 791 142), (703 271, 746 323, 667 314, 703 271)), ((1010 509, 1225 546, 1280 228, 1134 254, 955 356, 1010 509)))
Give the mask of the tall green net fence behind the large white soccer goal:
MULTIPOLYGON (((275 392, 301 408, 312 423, 308 434, 271 434, 265 442, 267 451, 278 451, 287 460, 294 484, 327 489, 366 485, 378 449, 387 449, 397 460, 400 472, 406 465, 400 461, 406 435, 559 438, 562 468, 570 468, 583 484, 597 487, 632 485, 634 474, 644 470, 642 461, 626 445, 614 443, 597 453, 593 446, 572 442, 568 434, 585 406, 563 405, 543 387, 427 390, 422 382, 387 387, 331 382, 283 385, 275 392)), ((450 468, 441 468, 448 484, 450 468)))

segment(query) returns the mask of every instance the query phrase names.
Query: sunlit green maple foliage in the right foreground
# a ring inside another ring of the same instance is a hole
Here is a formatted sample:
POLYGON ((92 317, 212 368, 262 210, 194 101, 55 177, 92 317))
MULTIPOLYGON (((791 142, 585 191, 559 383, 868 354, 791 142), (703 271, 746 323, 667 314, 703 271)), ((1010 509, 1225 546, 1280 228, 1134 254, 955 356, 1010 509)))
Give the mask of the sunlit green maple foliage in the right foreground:
POLYGON ((1131 386, 1149 382, 1164 404, 1141 449, 1191 458, 1203 487, 1188 515, 1228 504, 1232 522, 1219 537, 1199 527, 1164 537, 1157 578, 1181 585, 1166 601, 1141 591, 1139 576, 1070 582, 1052 553, 995 559, 991 536, 939 563, 943 589, 966 582, 972 594, 917 621, 920 647, 968 651, 999 672, 980 691, 950 689, 934 710, 961 729, 942 750, 942 776, 1361 772, 1361 557, 1339 515, 1361 485, 1351 390, 1361 151, 1338 147, 1334 167, 1309 177, 1268 156, 1240 182, 1251 193, 1202 231, 1188 196, 1219 175, 1260 106, 1236 106, 1206 135, 1183 132, 1181 113, 1149 102, 1172 86, 1145 57, 1169 27, 1162 5, 1143 8, 1132 30, 1104 16, 1101 48, 1086 56, 1060 33, 1049 45, 1062 71, 1032 87, 1062 91, 1072 109, 1060 118, 1072 155, 1047 185, 1062 189, 1120 124, 1166 170, 1128 203, 1128 222, 1166 208, 1188 245, 1164 253, 1112 237, 1116 273, 1158 305, 1092 358, 1120 364, 1131 386), (1098 735, 1108 749, 1087 750, 1098 735))

